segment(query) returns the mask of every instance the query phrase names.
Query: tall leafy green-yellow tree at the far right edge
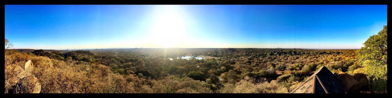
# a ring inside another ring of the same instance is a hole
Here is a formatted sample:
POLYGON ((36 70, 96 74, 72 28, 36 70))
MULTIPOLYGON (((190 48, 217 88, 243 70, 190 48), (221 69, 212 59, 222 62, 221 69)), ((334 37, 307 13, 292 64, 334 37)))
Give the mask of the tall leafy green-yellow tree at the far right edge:
POLYGON ((357 51, 358 63, 365 69, 370 78, 372 93, 387 93, 387 26, 370 36, 357 51))

